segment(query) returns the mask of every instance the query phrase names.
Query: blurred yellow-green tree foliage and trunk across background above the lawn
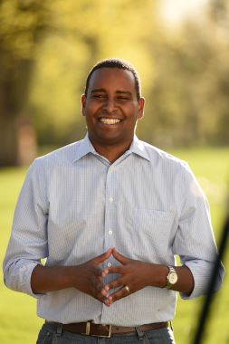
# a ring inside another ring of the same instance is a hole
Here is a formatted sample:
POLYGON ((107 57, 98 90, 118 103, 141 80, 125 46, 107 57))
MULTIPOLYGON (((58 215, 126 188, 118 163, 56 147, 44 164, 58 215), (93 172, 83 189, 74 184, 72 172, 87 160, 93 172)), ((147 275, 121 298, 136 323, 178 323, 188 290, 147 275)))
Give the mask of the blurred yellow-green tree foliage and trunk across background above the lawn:
POLYGON ((16 163, 18 119, 40 144, 85 133, 81 93, 98 60, 132 62, 142 79, 141 139, 160 146, 229 143, 229 1, 176 28, 159 0, 0 1, 0 165, 16 163))

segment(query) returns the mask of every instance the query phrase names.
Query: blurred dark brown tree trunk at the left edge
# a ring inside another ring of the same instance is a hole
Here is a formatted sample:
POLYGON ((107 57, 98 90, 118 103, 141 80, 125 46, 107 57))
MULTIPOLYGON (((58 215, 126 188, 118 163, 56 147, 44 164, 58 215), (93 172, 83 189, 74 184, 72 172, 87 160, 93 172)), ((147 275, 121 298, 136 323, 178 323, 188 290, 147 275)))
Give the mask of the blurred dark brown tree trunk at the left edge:
POLYGON ((22 130, 24 123, 27 129, 28 125, 31 127, 26 118, 22 120, 22 114, 27 101, 32 63, 12 62, 5 67, 4 73, 0 73, 0 167, 27 164, 34 158, 33 130, 22 130), (28 139, 29 132, 33 139, 28 139), (33 152, 29 151, 30 143, 33 152), (25 154, 30 158, 26 160, 25 154))

